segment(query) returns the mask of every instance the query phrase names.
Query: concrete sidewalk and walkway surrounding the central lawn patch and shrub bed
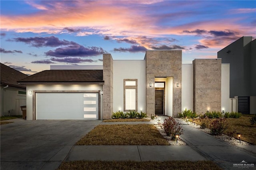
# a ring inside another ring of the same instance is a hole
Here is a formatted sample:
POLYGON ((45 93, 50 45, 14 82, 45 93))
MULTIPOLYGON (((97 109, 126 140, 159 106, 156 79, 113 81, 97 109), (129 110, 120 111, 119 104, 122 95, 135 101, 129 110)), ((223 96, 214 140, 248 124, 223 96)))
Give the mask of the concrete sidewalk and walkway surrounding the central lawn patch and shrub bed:
MULTIPOLYGON (((158 117, 158 119, 165 117, 158 117)), ((154 122, 117 122, 111 124, 152 124, 154 122)), ((72 160, 135 160, 135 161, 166 161, 166 160, 212 160, 224 169, 238 169, 233 164, 245 160, 256 163, 256 146, 233 146, 206 134, 196 128, 182 123, 184 134, 180 138, 186 146, 78 146, 72 147, 64 161, 72 160)))

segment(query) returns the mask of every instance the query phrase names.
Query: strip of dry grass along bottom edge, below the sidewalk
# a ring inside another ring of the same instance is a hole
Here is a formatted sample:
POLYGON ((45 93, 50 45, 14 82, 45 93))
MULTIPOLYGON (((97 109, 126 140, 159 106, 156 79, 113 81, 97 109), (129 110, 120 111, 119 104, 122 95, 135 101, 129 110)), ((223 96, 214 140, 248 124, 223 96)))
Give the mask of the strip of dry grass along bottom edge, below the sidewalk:
POLYGON ((221 170, 212 161, 71 161, 62 162, 58 170, 221 170))

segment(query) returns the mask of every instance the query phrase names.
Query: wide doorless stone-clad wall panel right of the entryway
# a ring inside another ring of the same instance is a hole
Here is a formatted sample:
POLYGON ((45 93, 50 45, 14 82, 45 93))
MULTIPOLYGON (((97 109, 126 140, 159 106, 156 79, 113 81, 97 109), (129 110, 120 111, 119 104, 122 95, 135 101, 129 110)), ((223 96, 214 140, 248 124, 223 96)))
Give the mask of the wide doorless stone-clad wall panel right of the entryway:
POLYGON ((193 79, 193 111, 221 111, 221 59, 194 59, 193 79))

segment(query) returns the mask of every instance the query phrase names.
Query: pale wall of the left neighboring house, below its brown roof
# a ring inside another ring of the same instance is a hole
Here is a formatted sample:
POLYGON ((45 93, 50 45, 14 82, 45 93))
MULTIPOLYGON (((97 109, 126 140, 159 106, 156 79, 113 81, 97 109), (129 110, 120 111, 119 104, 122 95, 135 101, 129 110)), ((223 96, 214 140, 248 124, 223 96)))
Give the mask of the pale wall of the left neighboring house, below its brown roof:
POLYGON ((26 91, 16 87, 1 86, 1 116, 10 111, 10 115, 22 115, 20 106, 26 105, 26 95, 18 95, 18 91, 26 91))

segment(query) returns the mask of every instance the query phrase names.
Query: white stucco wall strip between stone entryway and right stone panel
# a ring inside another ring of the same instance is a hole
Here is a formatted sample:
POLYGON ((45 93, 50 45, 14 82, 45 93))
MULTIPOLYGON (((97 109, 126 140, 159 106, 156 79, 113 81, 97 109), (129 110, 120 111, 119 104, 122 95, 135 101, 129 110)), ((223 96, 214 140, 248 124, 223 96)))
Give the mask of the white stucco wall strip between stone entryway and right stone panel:
POLYGON ((181 109, 193 111, 193 64, 182 64, 181 109))

